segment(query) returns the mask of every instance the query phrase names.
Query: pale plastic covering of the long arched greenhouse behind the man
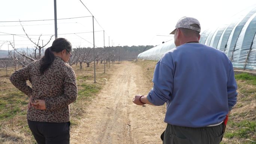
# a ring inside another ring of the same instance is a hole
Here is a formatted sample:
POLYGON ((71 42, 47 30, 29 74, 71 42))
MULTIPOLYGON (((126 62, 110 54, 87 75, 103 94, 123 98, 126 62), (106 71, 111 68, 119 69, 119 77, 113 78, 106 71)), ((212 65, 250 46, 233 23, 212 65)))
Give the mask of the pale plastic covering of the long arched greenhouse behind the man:
MULTIPOLYGON (((199 43, 224 52, 233 67, 256 70, 256 6, 238 13, 229 24, 202 31, 199 43)), ((174 40, 142 52, 138 59, 159 60, 175 48, 174 40)))

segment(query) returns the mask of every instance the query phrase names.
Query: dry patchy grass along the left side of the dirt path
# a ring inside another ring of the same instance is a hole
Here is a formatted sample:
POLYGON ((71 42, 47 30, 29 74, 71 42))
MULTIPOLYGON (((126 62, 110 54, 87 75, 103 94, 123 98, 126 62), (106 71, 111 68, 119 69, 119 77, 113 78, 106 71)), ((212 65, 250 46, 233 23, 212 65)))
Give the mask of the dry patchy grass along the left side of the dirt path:
MULTIPOLYGON (((73 65, 77 76, 79 89, 76 102, 70 105, 71 129, 80 124, 82 113, 86 113, 86 105, 89 104, 95 94, 101 89, 111 76, 111 71, 117 65, 98 64, 96 67, 96 82, 94 83, 93 63, 90 67, 83 64, 82 70, 79 65, 73 65)), ((16 89, 9 81, 9 76, 14 68, 0 69, 0 143, 3 144, 33 144, 36 141, 27 125, 27 102, 25 94, 16 89)))

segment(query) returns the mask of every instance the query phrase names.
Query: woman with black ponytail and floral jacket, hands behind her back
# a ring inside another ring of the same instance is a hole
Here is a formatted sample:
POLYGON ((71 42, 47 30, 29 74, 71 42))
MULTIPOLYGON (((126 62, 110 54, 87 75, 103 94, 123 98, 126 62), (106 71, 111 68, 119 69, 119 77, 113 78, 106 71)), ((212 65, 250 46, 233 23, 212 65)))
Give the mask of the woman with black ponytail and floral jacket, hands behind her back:
POLYGON ((76 75, 66 63, 72 56, 71 47, 68 40, 58 38, 42 59, 10 76, 12 84, 30 97, 28 126, 38 144, 69 144, 68 105, 77 97, 76 75))

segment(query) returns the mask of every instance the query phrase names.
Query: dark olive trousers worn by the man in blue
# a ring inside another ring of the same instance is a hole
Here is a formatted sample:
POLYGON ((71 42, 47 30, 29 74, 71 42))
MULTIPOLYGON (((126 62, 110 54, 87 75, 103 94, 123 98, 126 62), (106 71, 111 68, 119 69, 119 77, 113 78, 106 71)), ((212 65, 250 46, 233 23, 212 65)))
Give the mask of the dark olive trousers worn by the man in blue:
POLYGON ((188 128, 167 124, 163 144, 219 144, 223 123, 217 126, 188 128))

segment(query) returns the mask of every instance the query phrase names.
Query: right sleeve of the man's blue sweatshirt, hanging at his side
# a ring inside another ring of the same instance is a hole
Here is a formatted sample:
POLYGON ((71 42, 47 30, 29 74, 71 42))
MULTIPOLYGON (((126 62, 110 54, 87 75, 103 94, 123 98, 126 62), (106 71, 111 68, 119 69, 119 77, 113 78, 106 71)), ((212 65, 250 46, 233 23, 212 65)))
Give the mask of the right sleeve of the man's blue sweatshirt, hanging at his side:
POLYGON ((228 90, 228 110, 231 111, 237 103, 237 82, 235 81, 234 68, 232 62, 229 61, 229 76, 227 82, 228 90))

